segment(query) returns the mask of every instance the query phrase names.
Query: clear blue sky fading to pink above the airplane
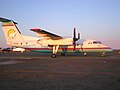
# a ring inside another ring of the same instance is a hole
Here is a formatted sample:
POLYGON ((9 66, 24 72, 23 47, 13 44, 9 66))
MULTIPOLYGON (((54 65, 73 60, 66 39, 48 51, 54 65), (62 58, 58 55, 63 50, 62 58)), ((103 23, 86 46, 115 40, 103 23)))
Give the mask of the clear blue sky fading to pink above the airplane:
MULTIPOLYGON (((60 36, 95 39, 120 49, 120 0, 0 0, 0 17, 18 23, 22 34, 41 28, 60 36)), ((0 23, 1 24, 1 23, 0 23)), ((0 26, 0 46, 6 47, 0 26)))

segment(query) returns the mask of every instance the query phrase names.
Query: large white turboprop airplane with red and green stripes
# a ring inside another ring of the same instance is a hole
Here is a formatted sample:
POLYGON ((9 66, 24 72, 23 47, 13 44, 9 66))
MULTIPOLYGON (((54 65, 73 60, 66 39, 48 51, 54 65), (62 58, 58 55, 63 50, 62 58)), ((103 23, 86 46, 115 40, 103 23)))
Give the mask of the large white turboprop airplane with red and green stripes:
POLYGON ((105 54, 105 52, 112 51, 109 46, 102 44, 100 41, 80 39, 79 33, 78 38, 76 38, 75 28, 73 38, 63 38, 39 28, 30 29, 40 36, 33 37, 22 35, 16 25, 17 23, 13 20, 0 18, 0 21, 8 45, 30 51, 50 52, 52 58, 56 57, 57 52, 60 52, 61 55, 68 52, 79 52, 85 55, 87 52, 105 54))

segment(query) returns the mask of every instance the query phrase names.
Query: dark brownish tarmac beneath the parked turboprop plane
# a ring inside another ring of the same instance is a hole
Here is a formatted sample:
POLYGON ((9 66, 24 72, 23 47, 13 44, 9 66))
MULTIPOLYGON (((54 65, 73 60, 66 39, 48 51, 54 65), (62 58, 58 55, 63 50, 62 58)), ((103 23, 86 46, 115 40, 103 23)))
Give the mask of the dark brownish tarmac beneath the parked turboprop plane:
POLYGON ((120 90, 120 55, 0 53, 0 90, 120 90))

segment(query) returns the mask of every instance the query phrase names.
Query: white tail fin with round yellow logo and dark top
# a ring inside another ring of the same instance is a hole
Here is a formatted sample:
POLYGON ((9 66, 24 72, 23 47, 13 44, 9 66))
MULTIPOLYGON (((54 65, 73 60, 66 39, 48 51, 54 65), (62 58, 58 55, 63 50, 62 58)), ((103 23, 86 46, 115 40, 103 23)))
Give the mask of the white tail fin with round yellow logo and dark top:
POLYGON ((23 42, 23 36, 19 31, 18 27, 16 26, 16 22, 1 18, 0 21, 2 22, 2 29, 7 41, 7 44, 10 46, 19 46, 19 42, 23 42))

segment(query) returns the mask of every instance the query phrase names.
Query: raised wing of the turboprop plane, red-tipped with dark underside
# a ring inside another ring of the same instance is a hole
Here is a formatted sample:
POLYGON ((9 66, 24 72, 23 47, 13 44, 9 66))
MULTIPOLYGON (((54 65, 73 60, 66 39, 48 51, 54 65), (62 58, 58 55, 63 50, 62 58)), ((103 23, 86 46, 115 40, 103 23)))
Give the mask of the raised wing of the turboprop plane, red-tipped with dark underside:
POLYGON ((33 29, 30 29, 30 30, 36 32, 39 36, 45 37, 47 39, 52 39, 52 40, 62 39, 62 37, 59 36, 59 35, 47 32, 45 30, 41 30, 39 28, 33 28, 33 29))

